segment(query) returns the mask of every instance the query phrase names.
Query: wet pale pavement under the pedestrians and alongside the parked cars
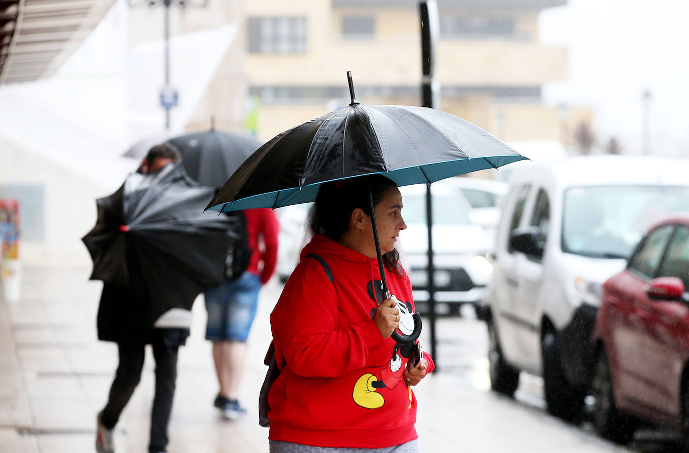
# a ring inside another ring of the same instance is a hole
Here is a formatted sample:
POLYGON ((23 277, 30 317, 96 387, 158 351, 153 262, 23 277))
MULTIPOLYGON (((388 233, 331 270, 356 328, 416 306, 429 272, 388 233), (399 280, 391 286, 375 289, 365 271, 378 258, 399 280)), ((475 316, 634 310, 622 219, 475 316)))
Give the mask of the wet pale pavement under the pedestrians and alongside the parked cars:
MULTIPOLYGON (((113 343, 96 339, 101 283, 90 266, 28 268, 17 304, 0 302, 0 452, 94 451, 96 413, 105 404, 116 368, 113 343)), ((212 406, 218 391, 210 345, 203 339, 203 298, 181 348, 169 453, 267 452, 268 430, 258 425, 256 401, 270 341, 268 315, 282 285, 273 279, 260 296, 249 336, 249 361, 240 401, 249 413, 224 421, 212 406)), ((632 447, 599 439, 589 425, 573 426, 544 411, 542 381, 522 374, 516 399, 489 391, 486 330, 473 310, 438 321, 440 370, 415 387, 422 452, 659 452, 676 450, 669 434, 639 437, 632 447)), ((424 329, 422 339, 430 349, 424 329), (424 338, 425 337, 425 338, 424 338)), ((145 452, 154 390, 147 351, 141 383, 116 427, 118 453, 145 452)), ((371 419, 375 425, 376 419, 371 419)))

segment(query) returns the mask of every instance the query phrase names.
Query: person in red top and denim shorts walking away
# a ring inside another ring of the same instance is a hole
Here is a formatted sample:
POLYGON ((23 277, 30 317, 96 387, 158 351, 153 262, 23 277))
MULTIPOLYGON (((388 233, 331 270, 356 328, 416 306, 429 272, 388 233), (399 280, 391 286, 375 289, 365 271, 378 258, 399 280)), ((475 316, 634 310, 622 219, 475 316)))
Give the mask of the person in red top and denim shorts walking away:
POLYGON ((258 294, 275 271, 278 259, 278 219, 268 208, 244 210, 250 258, 245 272, 205 292, 206 339, 212 341, 220 390, 214 406, 224 419, 236 420, 247 411, 238 401, 247 354, 247 338, 256 316, 258 294))

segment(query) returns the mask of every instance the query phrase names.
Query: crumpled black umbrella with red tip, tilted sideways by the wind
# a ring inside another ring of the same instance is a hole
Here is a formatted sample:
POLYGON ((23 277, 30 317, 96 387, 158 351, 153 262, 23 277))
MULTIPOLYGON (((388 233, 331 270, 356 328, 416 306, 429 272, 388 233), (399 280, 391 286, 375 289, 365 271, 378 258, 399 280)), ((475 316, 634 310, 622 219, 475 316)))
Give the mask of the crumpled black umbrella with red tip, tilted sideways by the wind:
POLYGON ((142 307, 148 325, 172 308, 190 310, 200 292, 224 279, 232 220, 201 214, 213 193, 179 163, 158 174, 130 174, 96 201, 96 225, 82 239, 93 260, 91 279, 150 301, 142 307))

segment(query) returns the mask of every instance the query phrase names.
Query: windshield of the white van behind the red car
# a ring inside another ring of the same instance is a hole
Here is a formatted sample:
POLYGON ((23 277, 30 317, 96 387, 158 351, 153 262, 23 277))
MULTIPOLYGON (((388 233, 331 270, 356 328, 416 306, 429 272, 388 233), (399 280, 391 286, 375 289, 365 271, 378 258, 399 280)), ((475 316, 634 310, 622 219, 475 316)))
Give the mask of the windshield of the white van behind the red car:
POLYGON ((564 193, 562 251, 627 259, 648 227, 672 212, 689 212, 689 188, 570 188, 564 193))

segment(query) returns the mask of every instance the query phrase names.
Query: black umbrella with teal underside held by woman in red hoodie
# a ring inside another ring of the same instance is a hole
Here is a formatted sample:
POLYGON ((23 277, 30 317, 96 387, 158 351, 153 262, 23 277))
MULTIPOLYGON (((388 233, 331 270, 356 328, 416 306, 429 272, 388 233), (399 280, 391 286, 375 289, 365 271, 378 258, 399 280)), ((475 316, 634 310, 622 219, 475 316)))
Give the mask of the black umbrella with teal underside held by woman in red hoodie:
MULTIPOLYGON (((432 183, 526 159, 452 114, 408 105, 360 105, 349 77, 351 103, 291 128, 256 150, 207 206, 229 212, 314 201, 322 183, 382 174, 398 186, 432 183)), ((371 201, 371 212, 373 202, 371 201)), ((389 296, 376 239, 382 290, 389 296)), ((420 325, 420 316, 416 325, 420 325)), ((395 340, 413 341, 395 332, 395 340)))

